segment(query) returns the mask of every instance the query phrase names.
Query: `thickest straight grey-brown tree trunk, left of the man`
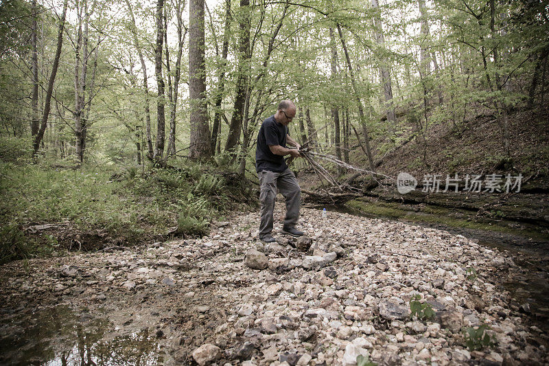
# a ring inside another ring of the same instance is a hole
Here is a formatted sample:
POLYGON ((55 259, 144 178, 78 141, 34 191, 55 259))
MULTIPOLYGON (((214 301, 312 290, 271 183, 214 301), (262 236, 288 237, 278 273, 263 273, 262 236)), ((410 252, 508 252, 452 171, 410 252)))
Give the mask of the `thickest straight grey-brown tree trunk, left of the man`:
POLYGON ((189 157, 194 160, 211 158, 206 101, 206 65, 204 0, 191 0, 189 3, 189 104, 191 124, 191 144, 189 157))

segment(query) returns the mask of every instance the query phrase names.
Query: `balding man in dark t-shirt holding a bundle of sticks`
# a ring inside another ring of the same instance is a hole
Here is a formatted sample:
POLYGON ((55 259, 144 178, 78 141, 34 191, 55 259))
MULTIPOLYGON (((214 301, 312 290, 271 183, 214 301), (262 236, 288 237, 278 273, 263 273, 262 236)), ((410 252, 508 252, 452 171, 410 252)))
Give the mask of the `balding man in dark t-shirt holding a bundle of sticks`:
POLYGON ((282 233, 291 236, 302 236, 303 231, 296 229, 301 206, 301 188, 296 176, 288 169, 284 161, 285 155, 300 157, 301 146, 290 137, 288 124, 296 115, 296 106, 291 100, 283 100, 274 115, 265 119, 257 135, 257 150, 255 151, 255 170, 259 177, 261 193, 261 222, 259 224, 259 239, 263 242, 276 242, 272 237, 272 211, 277 198, 277 188, 286 201, 286 216, 282 233), (286 147, 286 143, 295 149, 286 147))

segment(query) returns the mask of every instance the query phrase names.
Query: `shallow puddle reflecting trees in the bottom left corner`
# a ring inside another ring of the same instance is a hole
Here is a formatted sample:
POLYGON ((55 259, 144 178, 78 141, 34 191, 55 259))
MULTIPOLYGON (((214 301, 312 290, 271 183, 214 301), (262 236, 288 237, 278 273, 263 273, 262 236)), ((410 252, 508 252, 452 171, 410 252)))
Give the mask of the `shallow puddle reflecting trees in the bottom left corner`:
POLYGON ((113 336, 106 318, 56 306, 30 314, 3 315, 0 364, 9 365, 156 365, 159 345, 148 329, 113 336))

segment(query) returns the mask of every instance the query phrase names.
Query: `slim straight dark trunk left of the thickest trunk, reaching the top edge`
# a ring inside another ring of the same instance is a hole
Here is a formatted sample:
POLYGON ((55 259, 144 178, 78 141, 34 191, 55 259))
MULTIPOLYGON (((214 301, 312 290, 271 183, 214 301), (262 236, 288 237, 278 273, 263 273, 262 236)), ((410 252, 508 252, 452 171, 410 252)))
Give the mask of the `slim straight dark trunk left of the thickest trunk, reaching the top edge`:
POLYGON ((164 112, 164 79, 162 76, 162 49, 164 43, 163 23, 164 0, 156 2, 156 48, 154 49, 154 73, 158 85, 156 99, 156 147, 154 148, 153 159, 156 163, 162 164, 165 139, 165 112, 164 112))

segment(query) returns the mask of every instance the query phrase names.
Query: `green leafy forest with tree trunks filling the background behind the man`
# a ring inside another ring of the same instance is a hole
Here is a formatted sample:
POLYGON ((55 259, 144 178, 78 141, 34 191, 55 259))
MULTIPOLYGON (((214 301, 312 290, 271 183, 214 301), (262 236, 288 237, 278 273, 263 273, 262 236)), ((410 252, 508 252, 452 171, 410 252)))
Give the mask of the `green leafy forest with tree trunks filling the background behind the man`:
POLYGON ((223 155, 244 172, 261 121, 290 98, 291 133, 347 162, 351 138, 375 168, 410 134, 480 113, 495 117, 510 156, 509 115, 546 100, 546 1, 0 7, 2 155, 99 165, 223 155))

